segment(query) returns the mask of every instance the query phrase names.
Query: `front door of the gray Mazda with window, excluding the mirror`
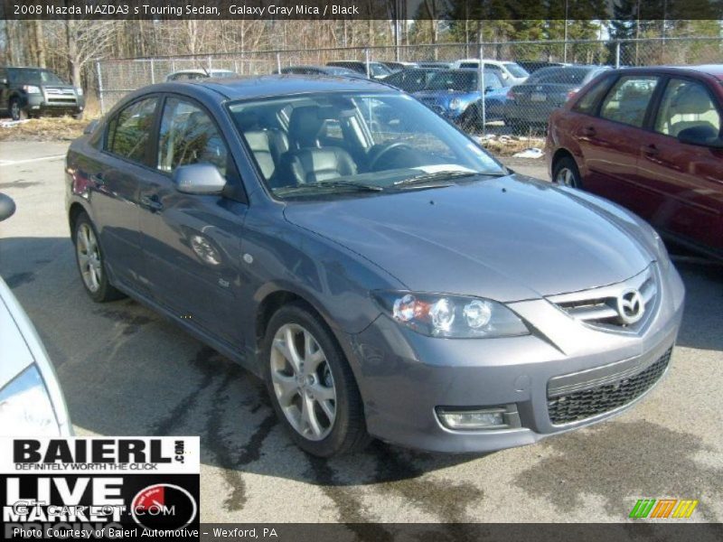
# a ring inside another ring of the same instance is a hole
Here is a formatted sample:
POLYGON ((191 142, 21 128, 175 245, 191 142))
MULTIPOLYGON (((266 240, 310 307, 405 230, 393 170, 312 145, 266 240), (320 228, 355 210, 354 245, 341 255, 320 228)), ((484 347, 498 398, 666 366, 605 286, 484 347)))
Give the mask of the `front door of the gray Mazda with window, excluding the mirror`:
POLYGON ((215 339, 238 348, 247 305, 240 299, 240 243, 247 205, 228 145, 211 115, 190 98, 165 98, 155 172, 140 189, 142 245, 155 300, 215 339), (230 195, 178 192, 175 168, 213 164, 230 195))

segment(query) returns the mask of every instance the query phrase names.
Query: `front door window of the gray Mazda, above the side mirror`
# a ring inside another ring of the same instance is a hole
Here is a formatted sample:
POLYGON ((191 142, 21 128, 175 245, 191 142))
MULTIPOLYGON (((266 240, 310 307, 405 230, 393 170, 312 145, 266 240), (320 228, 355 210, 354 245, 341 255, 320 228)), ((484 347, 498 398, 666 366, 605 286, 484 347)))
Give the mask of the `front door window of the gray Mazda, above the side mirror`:
POLYGON ((200 107, 169 98, 158 134, 159 170, 171 173, 179 165, 213 164, 226 175, 229 153, 216 125, 200 107))

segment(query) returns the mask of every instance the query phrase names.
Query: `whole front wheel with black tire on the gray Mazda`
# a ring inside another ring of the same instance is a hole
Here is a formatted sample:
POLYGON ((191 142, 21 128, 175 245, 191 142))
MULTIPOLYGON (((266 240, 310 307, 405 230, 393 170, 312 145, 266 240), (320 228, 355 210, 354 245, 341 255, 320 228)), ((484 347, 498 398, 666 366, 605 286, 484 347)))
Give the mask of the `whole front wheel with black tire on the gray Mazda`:
POLYGON ((271 403, 302 450, 332 457, 369 443, 352 369, 315 313, 303 304, 279 309, 268 322, 262 351, 271 403))

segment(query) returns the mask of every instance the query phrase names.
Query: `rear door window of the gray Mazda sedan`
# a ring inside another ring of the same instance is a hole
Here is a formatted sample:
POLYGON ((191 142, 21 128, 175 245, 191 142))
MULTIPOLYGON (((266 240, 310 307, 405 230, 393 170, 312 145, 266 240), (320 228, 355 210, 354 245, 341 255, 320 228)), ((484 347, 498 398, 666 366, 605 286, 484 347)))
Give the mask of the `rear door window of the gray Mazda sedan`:
POLYGON ((158 98, 146 98, 122 109, 108 124, 106 150, 135 162, 146 162, 158 98))

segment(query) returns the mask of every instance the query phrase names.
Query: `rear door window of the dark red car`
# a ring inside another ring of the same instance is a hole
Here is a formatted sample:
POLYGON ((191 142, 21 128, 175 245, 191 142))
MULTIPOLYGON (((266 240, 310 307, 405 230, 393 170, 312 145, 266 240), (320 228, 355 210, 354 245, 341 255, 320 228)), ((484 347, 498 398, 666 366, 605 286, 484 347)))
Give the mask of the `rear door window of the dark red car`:
POLYGON ((600 117, 630 126, 643 126, 657 77, 629 76, 617 80, 600 107, 600 117))

